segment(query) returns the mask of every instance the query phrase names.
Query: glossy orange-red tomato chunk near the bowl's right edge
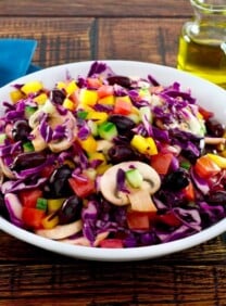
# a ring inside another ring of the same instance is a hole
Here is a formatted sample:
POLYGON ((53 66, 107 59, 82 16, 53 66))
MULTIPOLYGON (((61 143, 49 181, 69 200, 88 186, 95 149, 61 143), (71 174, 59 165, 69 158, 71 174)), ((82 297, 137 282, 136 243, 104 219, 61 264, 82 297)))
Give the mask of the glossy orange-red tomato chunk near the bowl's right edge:
POLYGON ((193 169, 199 177, 205 179, 215 176, 221 171, 221 168, 208 155, 198 158, 193 169))

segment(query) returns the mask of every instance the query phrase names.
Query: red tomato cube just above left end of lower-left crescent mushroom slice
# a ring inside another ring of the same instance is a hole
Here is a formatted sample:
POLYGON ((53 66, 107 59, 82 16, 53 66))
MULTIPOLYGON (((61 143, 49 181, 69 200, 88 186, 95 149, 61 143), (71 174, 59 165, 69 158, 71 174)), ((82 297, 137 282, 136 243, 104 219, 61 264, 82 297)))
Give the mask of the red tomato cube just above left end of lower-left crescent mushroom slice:
POLYGON ((33 207, 23 207, 22 220, 24 224, 32 229, 41 228, 41 221, 45 217, 45 211, 33 207))

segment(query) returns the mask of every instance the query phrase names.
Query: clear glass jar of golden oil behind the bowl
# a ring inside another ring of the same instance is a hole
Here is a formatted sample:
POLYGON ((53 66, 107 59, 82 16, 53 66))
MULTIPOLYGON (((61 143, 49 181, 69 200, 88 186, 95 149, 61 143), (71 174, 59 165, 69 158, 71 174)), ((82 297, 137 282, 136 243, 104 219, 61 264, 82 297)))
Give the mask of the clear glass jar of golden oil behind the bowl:
POLYGON ((179 38, 177 68, 226 88, 226 0, 190 0, 193 18, 179 38))

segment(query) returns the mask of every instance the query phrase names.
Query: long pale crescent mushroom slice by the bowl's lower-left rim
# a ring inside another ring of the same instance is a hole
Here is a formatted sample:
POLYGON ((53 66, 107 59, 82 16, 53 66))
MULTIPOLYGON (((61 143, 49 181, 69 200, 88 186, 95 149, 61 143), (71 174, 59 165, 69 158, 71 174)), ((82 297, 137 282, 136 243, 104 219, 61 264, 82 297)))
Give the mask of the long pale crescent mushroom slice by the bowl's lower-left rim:
POLYGON ((83 228, 81 220, 77 220, 68 225, 56 226, 53 229, 38 229, 36 230, 36 233, 45 238, 60 240, 60 239, 68 238, 70 235, 79 232, 81 228, 83 228))

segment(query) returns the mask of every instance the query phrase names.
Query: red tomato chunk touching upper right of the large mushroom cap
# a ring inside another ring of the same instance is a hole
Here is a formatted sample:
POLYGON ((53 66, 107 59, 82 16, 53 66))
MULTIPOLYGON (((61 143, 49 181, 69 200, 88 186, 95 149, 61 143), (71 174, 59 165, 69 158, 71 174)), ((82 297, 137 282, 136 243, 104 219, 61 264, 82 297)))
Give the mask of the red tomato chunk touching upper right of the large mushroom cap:
POLYGON ((151 166, 160 175, 166 175, 171 166, 173 153, 158 153, 151 156, 151 166))

